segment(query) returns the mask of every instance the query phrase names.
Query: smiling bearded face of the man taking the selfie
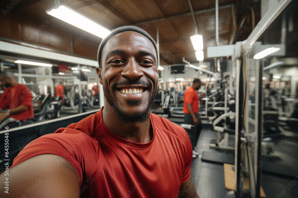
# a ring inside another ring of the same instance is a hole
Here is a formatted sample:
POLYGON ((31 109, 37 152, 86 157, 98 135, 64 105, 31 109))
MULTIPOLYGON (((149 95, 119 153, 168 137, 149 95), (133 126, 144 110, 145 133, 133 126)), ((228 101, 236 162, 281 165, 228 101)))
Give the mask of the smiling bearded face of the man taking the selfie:
POLYGON ((148 120, 156 96, 159 70, 150 40, 134 31, 111 37, 97 69, 107 102, 124 123, 148 120))

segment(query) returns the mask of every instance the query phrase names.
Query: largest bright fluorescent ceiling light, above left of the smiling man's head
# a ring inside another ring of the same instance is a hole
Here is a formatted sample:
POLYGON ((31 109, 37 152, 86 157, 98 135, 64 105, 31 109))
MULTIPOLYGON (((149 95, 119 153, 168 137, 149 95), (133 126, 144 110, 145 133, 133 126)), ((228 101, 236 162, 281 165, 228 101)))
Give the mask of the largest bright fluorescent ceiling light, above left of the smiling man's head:
POLYGON ((109 29, 66 6, 59 6, 46 13, 103 39, 111 33, 109 29))

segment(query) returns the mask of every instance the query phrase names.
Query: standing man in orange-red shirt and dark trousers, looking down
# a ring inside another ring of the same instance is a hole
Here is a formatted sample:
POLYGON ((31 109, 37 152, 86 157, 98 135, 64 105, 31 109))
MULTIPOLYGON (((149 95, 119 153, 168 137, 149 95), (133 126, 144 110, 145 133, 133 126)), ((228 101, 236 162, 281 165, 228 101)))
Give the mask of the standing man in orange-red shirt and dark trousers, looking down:
POLYGON ((199 96, 196 90, 199 90, 201 87, 201 80, 196 78, 193 80, 193 85, 187 88, 184 92, 184 124, 195 125, 191 129, 185 129, 189 135, 191 145, 193 147, 193 157, 198 156, 198 152, 195 151, 195 147, 198 142, 199 135, 202 130, 202 123, 199 112, 199 96))

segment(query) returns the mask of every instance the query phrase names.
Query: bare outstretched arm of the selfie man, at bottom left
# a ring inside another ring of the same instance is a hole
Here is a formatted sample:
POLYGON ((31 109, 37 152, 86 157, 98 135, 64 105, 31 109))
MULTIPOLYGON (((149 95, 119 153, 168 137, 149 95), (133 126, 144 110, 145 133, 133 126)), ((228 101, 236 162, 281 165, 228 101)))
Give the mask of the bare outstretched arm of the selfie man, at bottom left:
POLYGON ((5 198, 73 197, 80 187, 75 168, 66 159, 53 154, 27 159, 9 169, 9 175, 4 172, 0 175, 0 183, 4 184, 6 177, 9 178, 9 194, 2 188, 0 197, 5 198))

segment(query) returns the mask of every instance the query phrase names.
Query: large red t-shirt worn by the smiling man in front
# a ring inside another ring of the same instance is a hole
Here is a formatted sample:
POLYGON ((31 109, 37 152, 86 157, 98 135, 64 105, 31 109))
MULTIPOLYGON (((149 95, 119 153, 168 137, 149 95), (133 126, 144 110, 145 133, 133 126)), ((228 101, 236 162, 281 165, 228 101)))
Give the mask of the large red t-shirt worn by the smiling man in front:
POLYGON ((181 183, 190 178, 192 147, 186 131, 150 113, 153 139, 146 144, 131 142, 107 129, 102 109, 33 140, 13 166, 52 153, 75 167, 84 191, 81 198, 176 197, 181 183))

